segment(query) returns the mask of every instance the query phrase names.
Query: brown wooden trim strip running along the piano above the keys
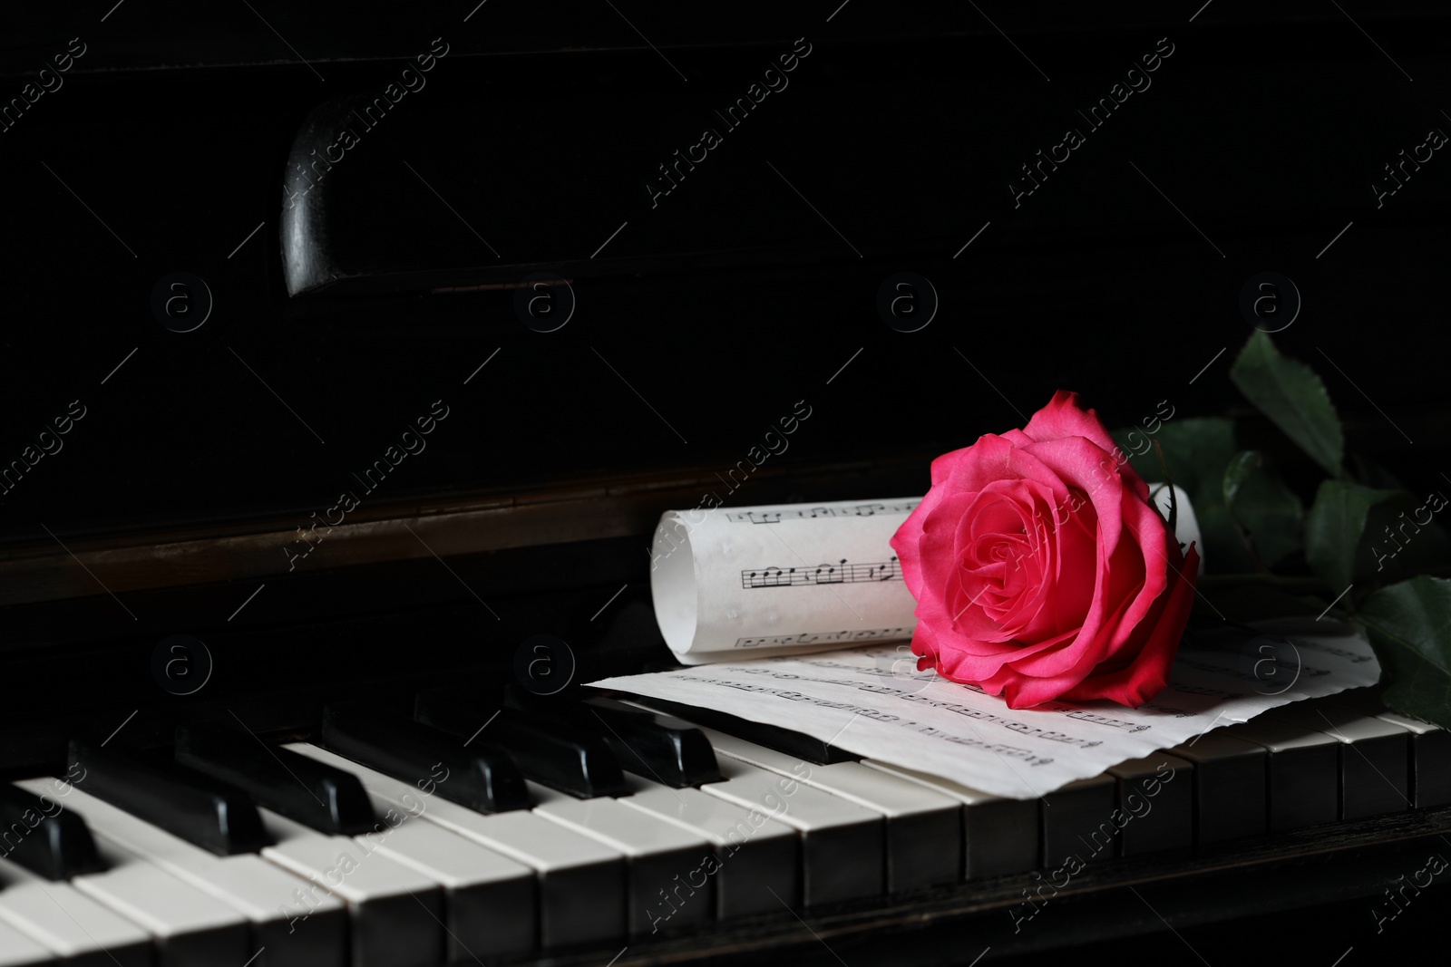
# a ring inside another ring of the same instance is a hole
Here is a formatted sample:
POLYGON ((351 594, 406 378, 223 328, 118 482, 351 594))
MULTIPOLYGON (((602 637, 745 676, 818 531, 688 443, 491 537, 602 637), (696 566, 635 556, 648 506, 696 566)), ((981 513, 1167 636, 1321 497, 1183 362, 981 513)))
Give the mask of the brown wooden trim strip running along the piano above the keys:
MULTIPOLYGON (((744 499, 727 497, 726 503, 800 502, 802 494, 821 502, 908 496, 917 477, 923 480, 916 490, 926 491, 929 460, 842 461, 808 471, 762 467, 749 478, 744 499)), ((509 493, 364 503, 331 529, 297 513, 81 539, 61 535, 64 547, 44 541, 0 548, 0 606, 631 535, 640 536, 646 554, 660 513, 701 506, 707 493, 730 491, 715 471, 691 468, 509 493), (308 538, 302 531, 313 526, 322 539, 309 545, 305 541, 312 539, 312 531, 308 538), (303 557, 308 547, 315 547, 318 557, 303 557)))

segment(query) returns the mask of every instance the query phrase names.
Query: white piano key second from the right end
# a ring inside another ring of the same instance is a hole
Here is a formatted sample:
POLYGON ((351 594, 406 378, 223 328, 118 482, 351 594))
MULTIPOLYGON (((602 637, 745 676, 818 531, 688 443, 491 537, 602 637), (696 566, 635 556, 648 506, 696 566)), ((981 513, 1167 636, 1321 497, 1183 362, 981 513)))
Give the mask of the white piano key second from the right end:
POLYGON ((1326 732, 1341 744, 1341 819, 1410 809, 1410 734, 1402 726, 1332 703, 1296 703, 1265 715, 1326 732))

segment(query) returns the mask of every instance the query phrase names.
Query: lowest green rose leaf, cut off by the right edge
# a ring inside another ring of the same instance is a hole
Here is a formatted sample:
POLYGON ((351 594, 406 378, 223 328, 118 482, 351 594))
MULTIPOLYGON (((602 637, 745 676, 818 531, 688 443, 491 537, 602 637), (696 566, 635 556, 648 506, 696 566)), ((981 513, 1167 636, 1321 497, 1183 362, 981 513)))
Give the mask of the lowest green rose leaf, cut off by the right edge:
POLYGON ((1383 587, 1360 616, 1387 684, 1381 700, 1451 728, 1451 580, 1422 574, 1383 587))

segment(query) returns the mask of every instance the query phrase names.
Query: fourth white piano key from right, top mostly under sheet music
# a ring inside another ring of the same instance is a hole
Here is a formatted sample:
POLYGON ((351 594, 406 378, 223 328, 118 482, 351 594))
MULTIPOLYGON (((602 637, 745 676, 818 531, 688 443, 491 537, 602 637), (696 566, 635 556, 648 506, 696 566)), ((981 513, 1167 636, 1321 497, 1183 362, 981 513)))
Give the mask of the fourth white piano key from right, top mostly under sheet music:
POLYGON ((1170 754, 1194 763, 1194 838, 1199 845, 1265 834, 1265 748, 1216 729, 1170 754))

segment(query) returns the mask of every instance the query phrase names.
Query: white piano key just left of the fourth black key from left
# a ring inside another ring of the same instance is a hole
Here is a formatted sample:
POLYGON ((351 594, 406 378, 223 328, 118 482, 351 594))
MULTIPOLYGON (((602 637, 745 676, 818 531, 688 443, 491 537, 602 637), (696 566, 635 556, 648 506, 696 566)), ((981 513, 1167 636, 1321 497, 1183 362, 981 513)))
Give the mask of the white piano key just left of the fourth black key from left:
MULTIPOLYGON (((299 754, 347 767, 370 794, 414 809, 418 790, 316 745, 299 754)), ((533 812, 483 815, 447 800, 431 800, 421 818, 482 844, 534 870, 538 889, 538 942, 546 950, 617 941, 625 935, 624 855, 533 812)))

